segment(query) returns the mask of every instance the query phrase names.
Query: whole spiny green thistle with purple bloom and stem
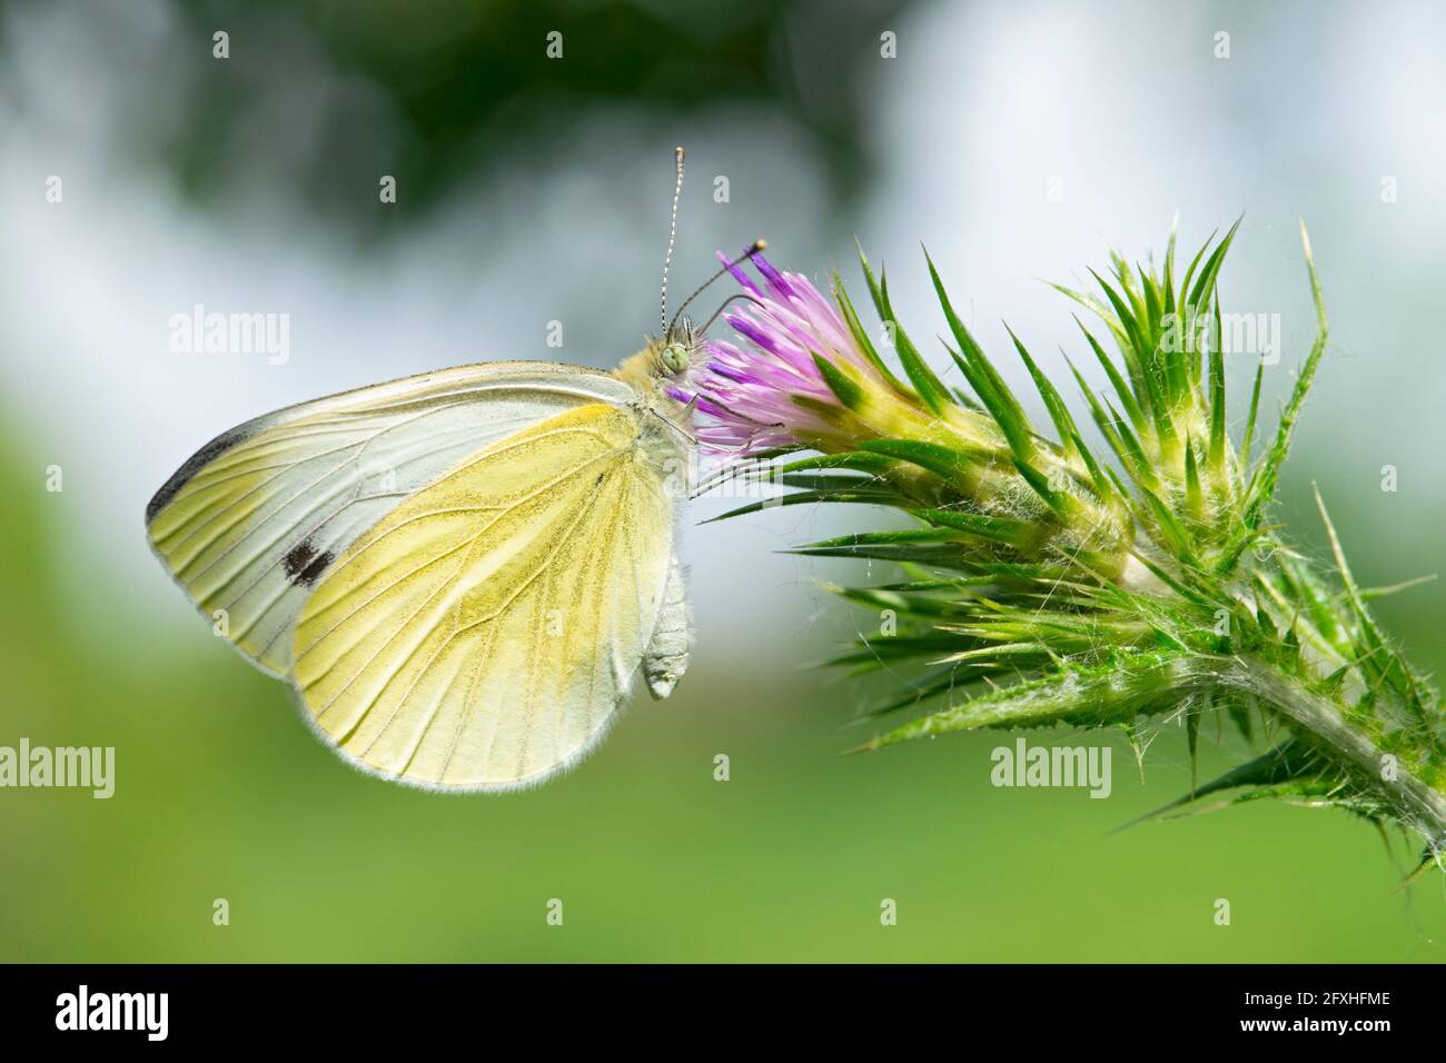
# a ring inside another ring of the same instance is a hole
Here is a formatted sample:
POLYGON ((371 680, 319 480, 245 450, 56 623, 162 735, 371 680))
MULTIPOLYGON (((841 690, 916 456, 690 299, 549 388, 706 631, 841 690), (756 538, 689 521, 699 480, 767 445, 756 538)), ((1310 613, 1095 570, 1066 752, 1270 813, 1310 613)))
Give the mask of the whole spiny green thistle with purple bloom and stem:
POLYGON ((792 489, 724 516, 865 503, 908 518, 902 531, 795 551, 898 564, 891 583, 834 587, 891 610, 897 628, 860 638, 833 664, 910 675, 872 710, 878 733, 862 749, 1057 723, 1122 727, 1138 749, 1151 722, 1177 720, 1193 759, 1202 726, 1220 717, 1259 755, 1192 784, 1167 808, 1206 795, 1339 806, 1414 832, 1421 868, 1440 863, 1442 703, 1372 618, 1371 592, 1356 586, 1319 493, 1333 573, 1268 519, 1326 350, 1304 226, 1314 343, 1271 437, 1257 443, 1264 362, 1242 437, 1226 431, 1216 288, 1235 233, 1206 242, 1183 276, 1171 234, 1160 268, 1116 256, 1108 278, 1095 275, 1099 295, 1060 288, 1096 321, 1076 317, 1108 386, 1093 388, 1073 362, 1070 370, 1103 447, 1086 440, 1011 331, 1048 414, 1048 425, 1031 422, 927 253, 943 346, 967 390, 924 359, 860 249, 884 340, 870 337, 837 272, 830 301, 758 255, 761 279, 732 268, 743 301, 726 321, 739 341, 710 341, 675 396, 696 402, 706 447, 766 457, 752 474, 792 489))

